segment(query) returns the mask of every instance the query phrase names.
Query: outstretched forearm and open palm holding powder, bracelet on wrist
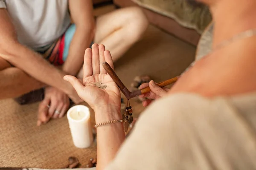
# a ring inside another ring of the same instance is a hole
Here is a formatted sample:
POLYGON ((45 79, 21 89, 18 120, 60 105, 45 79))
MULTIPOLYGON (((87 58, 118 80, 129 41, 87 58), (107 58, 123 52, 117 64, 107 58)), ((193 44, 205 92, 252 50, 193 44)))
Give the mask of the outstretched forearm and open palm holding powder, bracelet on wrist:
MULTIPOLYGON (((116 83, 102 66, 103 62, 113 68, 113 61, 104 45, 93 44, 84 54, 83 82, 76 77, 65 76, 77 94, 95 111, 95 122, 120 120, 121 94, 116 83)), ((114 123, 97 129, 97 169, 106 167, 115 157, 125 139, 122 123, 114 123)))

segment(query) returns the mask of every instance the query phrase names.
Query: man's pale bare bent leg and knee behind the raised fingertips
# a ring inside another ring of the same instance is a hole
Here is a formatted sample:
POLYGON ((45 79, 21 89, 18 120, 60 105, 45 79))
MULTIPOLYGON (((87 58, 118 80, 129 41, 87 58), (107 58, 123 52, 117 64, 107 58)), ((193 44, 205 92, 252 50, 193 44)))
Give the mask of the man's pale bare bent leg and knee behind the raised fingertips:
POLYGON ((140 40, 147 27, 148 20, 140 8, 121 8, 97 18, 94 42, 105 45, 116 61, 140 40))

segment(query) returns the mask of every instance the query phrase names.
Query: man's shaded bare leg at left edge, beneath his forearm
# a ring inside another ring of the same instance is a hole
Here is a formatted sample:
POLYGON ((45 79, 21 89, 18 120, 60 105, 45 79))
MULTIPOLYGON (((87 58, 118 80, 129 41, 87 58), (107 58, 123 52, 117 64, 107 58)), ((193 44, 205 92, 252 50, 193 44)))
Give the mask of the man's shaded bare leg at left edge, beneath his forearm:
POLYGON ((18 97, 42 87, 43 83, 0 58, 0 99, 18 97))

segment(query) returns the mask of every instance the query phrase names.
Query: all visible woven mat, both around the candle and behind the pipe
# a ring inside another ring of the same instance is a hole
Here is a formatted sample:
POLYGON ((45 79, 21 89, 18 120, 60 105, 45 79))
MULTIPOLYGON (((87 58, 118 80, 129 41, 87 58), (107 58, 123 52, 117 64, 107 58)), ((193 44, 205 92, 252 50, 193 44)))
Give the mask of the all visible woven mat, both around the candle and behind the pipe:
MULTIPOLYGON (((180 75, 194 56, 195 47, 149 26, 145 37, 115 63, 115 71, 127 87, 142 74, 160 82, 180 75)), ((134 100, 131 105, 135 115, 144 109, 134 100)), ((96 144, 74 147, 66 116, 37 127, 37 110, 38 103, 20 106, 12 99, 0 101, 0 167, 59 169, 69 156, 76 156, 82 165, 96 156, 96 144)), ((93 112, 91 117, 93 122, 93 112)))

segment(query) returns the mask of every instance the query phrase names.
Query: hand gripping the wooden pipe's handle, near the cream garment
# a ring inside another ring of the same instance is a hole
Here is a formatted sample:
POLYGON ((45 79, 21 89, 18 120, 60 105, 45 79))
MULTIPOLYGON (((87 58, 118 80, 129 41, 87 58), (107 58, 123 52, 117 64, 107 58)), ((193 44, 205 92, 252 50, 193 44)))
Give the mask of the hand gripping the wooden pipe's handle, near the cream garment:
POLYGON ((149 98, 148 100, 144 100, 142 102, 144 107, 150 105, 152 100, 165 96, 169 91, 169 88, 166 88, 166 87, 160 88, 153 80, 151 80, 149 83, 144 83, 144 84, 140 85, 140 89, 146 88, 148 86, 151 91, 146 94, 140 95, 140 97, 149 98))

